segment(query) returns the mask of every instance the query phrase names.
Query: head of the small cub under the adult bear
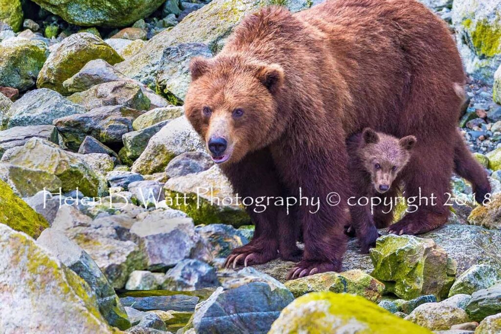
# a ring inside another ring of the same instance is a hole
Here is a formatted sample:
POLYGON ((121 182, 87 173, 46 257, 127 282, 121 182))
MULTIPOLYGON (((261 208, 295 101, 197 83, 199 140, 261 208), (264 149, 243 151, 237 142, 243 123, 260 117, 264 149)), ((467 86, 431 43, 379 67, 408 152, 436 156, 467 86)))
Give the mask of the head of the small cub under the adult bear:
POLYGON ((416 137, 395 138, 366 128, 362 132, 360 156, 379 193, 388 191, 402 168, 409 162, 416 137))

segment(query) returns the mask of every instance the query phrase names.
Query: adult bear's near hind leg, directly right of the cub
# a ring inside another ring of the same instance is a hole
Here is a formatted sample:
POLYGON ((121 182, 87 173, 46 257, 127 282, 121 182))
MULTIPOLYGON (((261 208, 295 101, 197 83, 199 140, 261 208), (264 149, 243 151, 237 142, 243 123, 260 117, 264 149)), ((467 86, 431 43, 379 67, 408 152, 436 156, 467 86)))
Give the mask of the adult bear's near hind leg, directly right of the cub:
MULTIPOLYGON (((455 129, 451 129, 455 131, 455 129)), ((445 138, 454 138, 450 131, 445 138)), ((389 233, 420 234, 431 231, 447 221, 450 214, 447 200, 453 167, 454 143, 439 138, 419 138, 412 158, 401 172, 405 182, 403 195, 407 213, 388 228, 389 233), (430 150, 430 147, 435 149, 430 150), (438 149, 439 148, 439 149, 438 149)))

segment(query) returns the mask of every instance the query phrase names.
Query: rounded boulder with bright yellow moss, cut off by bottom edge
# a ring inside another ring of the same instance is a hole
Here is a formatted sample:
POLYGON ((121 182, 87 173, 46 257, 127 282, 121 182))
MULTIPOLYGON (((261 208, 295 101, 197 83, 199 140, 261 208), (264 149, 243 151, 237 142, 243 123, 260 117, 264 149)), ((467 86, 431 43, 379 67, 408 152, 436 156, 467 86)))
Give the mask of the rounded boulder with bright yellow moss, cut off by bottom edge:
POLYGON ((313 292, 290 303, 269 334, 306 332, 357 334, 431 334, 431 331, 391 314, 384 308, 347 293, 313 292))

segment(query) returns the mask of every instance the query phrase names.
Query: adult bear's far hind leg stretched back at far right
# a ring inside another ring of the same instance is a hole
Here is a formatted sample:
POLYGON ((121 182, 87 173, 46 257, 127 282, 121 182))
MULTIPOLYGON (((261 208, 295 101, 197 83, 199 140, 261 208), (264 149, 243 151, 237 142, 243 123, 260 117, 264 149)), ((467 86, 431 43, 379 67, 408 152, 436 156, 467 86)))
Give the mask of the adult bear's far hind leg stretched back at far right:
POLYGON ((479 204, 483 204, 486 195, 491 192, 490 183, 487 179, 487 172, 478 161, 473 158, 463 138, 457 131, 454 146, 454 171, 460 177, 471 182, 475 200, 479 204))

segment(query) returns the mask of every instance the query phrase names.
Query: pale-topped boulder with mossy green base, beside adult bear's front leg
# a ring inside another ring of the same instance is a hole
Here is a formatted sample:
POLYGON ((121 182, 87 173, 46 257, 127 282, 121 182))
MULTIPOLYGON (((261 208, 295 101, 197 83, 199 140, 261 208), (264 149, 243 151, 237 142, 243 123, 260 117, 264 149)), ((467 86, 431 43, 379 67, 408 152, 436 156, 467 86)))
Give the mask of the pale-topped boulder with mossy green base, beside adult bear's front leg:
POLYGON ((173 177, 165 183, 168 205, 184 211, 196 224, 247 225, 250 218, 218 166, 195 174, 173 177), (182 194, 186 200, 176 201, 182 194))

